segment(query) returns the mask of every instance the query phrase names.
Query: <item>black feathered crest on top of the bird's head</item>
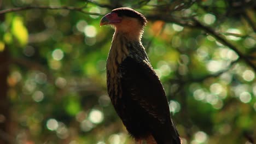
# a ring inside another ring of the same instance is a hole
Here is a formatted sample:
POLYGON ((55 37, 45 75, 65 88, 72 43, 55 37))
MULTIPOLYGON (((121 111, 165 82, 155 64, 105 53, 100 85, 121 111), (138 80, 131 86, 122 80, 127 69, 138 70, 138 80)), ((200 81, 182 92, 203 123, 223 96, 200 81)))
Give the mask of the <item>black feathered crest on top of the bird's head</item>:
POLYGON ((128 17, 137 18, 141 22, 143 27, 146 26, 148 22, 146 17, 144 17, 141 13, 131 8, 117 8, 117 9, 113 9, 112 12, 117 13, 118 16, 128 16, 128 17))

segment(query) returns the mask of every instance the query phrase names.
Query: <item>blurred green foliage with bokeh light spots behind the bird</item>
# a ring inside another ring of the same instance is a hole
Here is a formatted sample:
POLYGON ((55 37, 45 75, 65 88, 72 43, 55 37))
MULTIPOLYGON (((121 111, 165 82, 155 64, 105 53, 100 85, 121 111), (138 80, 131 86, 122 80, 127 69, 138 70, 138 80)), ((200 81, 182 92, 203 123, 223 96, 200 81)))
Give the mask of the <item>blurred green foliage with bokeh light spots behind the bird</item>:
MULTIPOLYGON (((149 21, 143 45, 183 143, 255 141, 255 1, 14 0, 1 9, 31 5, 100 15, 121 6, 140 11, 149 21)), ((2 15, 8 143, 133 143, 106 91, 114 30, 99 26, 102 16, 39 8, 2 15)))

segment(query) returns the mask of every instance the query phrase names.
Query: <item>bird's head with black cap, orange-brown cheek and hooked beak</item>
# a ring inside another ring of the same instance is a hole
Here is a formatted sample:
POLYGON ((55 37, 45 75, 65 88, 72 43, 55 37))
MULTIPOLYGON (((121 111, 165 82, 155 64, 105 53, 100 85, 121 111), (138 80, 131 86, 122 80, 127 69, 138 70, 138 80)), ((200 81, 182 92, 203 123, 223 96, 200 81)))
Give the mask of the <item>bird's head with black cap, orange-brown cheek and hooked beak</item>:
POLYGON ((113 9, 111 13, 102 17, 100 22, 100 26, 112 25, 116 33, 124 33, 128 37, 139 39, 146 24, 146 17, 131 8, 113 9))

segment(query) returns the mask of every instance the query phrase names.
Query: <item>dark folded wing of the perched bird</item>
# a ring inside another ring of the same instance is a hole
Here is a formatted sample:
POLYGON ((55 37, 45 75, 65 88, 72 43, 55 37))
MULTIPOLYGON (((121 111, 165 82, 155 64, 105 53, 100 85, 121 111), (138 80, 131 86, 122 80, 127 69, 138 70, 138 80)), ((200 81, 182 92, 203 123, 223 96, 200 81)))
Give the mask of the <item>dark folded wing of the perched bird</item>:
POLYGON ((164 88, 152 67, 146 61, 126 57, 119 66, 119 73, 123 98, 136 108, 137 121, 149 127, 149 133, 158 143, 179 141, 164 88))

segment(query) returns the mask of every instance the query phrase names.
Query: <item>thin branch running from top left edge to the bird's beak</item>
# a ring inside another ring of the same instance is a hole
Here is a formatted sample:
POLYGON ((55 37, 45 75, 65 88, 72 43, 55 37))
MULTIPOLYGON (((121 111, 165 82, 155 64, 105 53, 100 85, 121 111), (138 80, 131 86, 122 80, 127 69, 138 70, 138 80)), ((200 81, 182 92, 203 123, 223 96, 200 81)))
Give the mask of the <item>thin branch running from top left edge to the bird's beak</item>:
POLYGON ((6 14, 6 13, 13 13, 15 11, 22 11, 22 10, 30 10, 30 9, 66 9, 66 10, 73 10, 73 11, 79 11, 83 14, 88 15, 102 15, 99 13, 90 13, 88 11, 84 11, 85 7, 68 7, 68 6, 27 6, 27 7, 18 7, 18 8, 10 8, 10 9, 4 9, 0 10, 0 14, 6 14))

